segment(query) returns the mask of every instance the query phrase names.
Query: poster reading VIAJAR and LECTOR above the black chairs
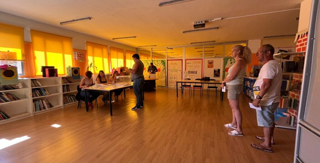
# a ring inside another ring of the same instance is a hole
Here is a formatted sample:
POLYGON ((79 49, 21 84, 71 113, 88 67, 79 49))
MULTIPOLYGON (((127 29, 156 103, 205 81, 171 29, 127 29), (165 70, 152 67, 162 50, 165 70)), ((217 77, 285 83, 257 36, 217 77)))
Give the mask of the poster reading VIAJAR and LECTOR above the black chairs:
POLYGON ((191 80, 201 79, 202 59, 186 59, 186 77, 191 80))

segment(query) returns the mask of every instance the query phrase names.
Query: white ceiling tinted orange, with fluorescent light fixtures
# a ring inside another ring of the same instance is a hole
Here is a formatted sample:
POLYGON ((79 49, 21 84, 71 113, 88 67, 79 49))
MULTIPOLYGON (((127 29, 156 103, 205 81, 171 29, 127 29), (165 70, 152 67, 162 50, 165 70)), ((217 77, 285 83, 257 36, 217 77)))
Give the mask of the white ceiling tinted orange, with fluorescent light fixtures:
MULTIPOLYGON (((191 42, 262 39, 264 36, 297 33, 300 10, 206 23, 219 30, 182 34, 193 30, 193 22, 214 18, 275 12, 300 8, 303 0, 194 0, 158 7, 169 0, 0 0, 0 11, 57 27, 112 40, 137 36, 117 43, 176 46, 191 42), (60 26, 60 22, 92 17, 91 21, 60 26)), ((198 28, 200 29, 200 28, 198 28)))

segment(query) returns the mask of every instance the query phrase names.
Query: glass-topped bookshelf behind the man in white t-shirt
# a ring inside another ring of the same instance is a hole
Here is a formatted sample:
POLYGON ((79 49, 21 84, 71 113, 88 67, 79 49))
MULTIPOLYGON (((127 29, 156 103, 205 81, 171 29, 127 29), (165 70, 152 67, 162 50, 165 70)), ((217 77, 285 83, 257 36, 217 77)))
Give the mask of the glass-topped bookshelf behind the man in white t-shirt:
POLYGON ((276 127, 296 129, 304 52, 282 52, 274 57, 283 69, 280 104, 275 112, 276 127))

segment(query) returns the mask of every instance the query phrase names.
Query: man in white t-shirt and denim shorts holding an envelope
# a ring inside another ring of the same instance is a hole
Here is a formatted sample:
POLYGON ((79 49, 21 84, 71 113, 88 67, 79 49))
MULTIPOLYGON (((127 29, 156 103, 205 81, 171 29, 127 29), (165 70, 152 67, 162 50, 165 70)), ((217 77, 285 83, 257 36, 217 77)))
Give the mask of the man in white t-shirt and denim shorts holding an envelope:
POLYGON ((274 112, 279 105, 280 90, 282 83, 282 68, 273 58, 275 49, 272 45, 262 45, 256 56, 263 66, 260 69, 259 77, 253 85, 255 99, 252 104, 256 107, 261 106, 261 111, 257 110, 258 126, 263 127, 264 136, 256 136, 257 139, 264 141, 259 144, 251 144, 255 149, 273 152, 272 145, 273 131, 275 129, 274 112))

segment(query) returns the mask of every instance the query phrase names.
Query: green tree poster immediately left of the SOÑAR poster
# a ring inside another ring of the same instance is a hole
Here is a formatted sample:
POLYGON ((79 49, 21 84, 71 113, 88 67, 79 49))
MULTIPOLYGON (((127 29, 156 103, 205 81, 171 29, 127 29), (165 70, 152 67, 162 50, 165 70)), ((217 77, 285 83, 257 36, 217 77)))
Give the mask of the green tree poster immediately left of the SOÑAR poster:
MULTIPOLYGON (((165 59, 154 59, 152 61, 153 65, 157 67, 158 72, 156 72, 156 86, 165 87, 166 86, 166 65, 165 59)), ((149 65, 150 66, 150 65, 149 65)), ((148 66, 148 67, 149 67, 148 66)), ((148 68, 147 68, 148 69, 148 68)))

